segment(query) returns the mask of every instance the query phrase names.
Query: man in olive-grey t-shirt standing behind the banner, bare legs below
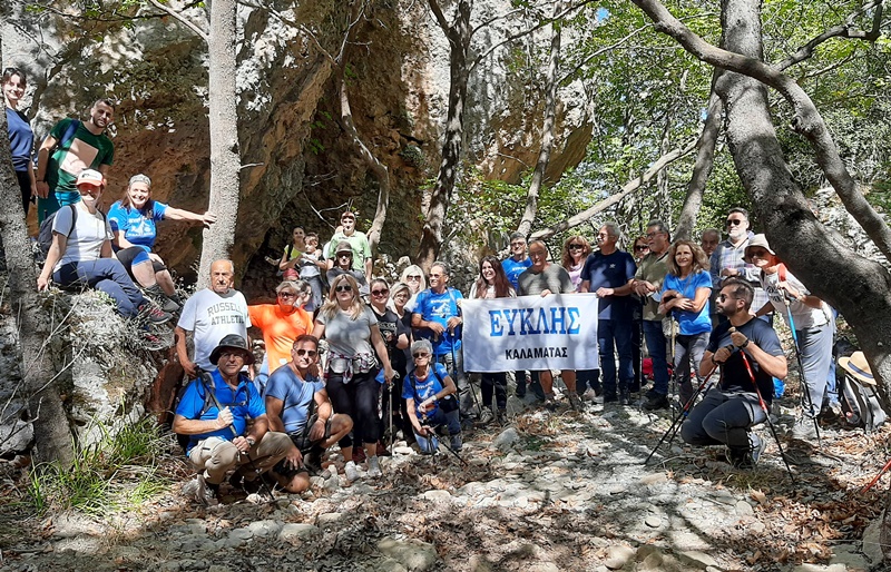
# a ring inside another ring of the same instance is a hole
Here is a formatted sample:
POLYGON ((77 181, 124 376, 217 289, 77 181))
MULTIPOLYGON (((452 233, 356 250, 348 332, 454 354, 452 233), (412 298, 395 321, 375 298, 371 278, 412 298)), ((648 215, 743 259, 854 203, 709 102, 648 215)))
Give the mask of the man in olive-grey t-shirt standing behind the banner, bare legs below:
MULTIPOLYGON (((527 268, 518 279, 520 296, 541 296, 548 294, 571 294, 576 292, 569 273, 558 264, 548 262, 548 248, 541 240, 532 240, 529 244, 529 257, 532 266, 527 268)), ((554 401, 554 375, 550 368, 539 372, 539 382, 545 391, 545 406, 555 410, 557 403, 554 401)), ((576 393, 576 372, 575 369, 560 369, 560 377, 566 384, 568 392, 569 406, 576 411, 581 411, 581 400, 576 393)))

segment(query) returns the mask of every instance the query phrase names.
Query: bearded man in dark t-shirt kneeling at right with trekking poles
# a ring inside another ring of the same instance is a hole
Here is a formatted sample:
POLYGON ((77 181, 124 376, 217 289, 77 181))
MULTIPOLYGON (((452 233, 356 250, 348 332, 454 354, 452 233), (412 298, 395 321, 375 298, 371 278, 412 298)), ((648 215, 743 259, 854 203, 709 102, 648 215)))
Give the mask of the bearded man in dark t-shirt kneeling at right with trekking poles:
POLYGON ((772 376, 786 376, 780 338, 770 324, 750 313, 754 297, 745 280, 733 278, 722 286, 716 305, 727 322, 712 332, 699 365, 703 376, 719 365, 722 383, 693 407, 681 427, 682 438, 691 445, 727 445, 737 467, 754 466, 764 452, 765 442, 751 431, 767 418, 757 392, 770 408, 772 376))

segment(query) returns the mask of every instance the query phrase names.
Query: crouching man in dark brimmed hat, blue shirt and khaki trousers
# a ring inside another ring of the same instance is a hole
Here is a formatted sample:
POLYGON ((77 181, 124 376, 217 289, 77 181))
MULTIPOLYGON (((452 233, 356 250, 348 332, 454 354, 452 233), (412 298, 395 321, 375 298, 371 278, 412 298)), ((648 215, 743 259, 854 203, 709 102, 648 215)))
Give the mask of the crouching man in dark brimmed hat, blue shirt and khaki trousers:
POLYGON ((247 375, 241 373, 254 363, 247 341, 227 335, 210 353, 210 362, 217 369, 186 387, 173 427, 175 433, 189 435, 186 455, 198 471, 183 492, 204 504, 218 497, 219 484, 231 469, 236 469, 229 480, 233 486, 256 492, 260 475, 291 450, 287 435, 268 431, 266 406, 247 375), (253 424, 245 434, 248 418, 253 424))

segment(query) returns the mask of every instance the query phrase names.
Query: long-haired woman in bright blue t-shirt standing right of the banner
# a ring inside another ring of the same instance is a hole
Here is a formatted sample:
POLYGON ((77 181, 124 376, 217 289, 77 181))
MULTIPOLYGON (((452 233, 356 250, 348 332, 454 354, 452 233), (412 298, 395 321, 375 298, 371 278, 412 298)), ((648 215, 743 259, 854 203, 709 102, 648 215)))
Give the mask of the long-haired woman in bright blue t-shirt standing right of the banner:
POLYGON ((681 405, 693 396, 689 365, 699 379, 699 362, 708 345, 712 320, 708 317, 708 296, 712 278, 708 275, 708 257, 699 245, 691 240, 677 240, 668 250, 668 274, 662 286, 659 314, 669 315, 677 322, 675 339, 675 379, 681 386, 681 405))

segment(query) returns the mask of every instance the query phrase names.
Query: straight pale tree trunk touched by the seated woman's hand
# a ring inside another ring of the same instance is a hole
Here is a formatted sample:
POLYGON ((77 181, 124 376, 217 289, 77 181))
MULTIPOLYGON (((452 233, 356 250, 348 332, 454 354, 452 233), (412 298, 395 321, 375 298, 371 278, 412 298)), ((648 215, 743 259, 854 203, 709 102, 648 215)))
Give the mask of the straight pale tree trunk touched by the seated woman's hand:
POLYGON ((208 209, 216 223, 204 230, 198 288, 207 285, 210 264, 228 258, 235 243, 242 160, 238 151, 238 111, 235 89, 235 0, 210 2, 207 42, 210 193, 208 209))

